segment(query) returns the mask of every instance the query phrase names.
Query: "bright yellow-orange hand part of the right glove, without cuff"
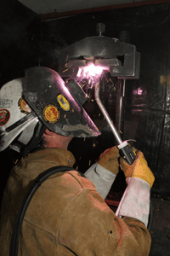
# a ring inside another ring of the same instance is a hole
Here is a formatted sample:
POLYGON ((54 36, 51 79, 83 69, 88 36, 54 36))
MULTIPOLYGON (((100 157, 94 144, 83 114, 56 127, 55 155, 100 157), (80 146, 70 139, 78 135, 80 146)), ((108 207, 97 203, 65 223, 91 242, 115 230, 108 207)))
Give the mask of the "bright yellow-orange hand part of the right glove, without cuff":
POLYGON ((139 177, 149 183, 151 189, 155 181, 155 177, 150 171, 146 160, 144 159, 144 154, 141 151, 136 151, 136 153, 136 159, 131 166, 128 165, 127 161, 124 160, 122 157, 120 158, 120 165, 122 166, 122 171, 124 172, 126 179, 127 177, 139 177))

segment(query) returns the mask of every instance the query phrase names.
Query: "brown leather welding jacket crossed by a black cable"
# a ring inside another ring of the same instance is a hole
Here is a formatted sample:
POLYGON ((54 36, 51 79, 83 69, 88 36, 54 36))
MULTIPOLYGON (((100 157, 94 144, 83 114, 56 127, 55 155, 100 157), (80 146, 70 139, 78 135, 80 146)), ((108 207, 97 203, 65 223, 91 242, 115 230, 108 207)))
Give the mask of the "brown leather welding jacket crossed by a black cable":
MULTIPOLYGON (((73 166, 62 148, 28 154, 14 166, 3 194, 0 255, 8 256, 14 221, 36 177, 53 166, 73 166)), ((20 231, 19 256, 147 256, 150 233, 135 218, 119 218, 88 178, 58 172, 32 197, 20 231)))

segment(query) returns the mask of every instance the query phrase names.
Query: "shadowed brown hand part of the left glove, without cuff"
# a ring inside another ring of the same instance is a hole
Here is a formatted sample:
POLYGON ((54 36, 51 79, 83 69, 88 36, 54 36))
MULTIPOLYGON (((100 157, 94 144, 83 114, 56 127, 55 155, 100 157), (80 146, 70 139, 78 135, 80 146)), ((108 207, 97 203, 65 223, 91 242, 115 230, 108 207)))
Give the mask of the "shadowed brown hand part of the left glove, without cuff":
POLYGON ((120 154, 118 148, 108 148, 102 154, 100 154, 98 163, 100 166, 103 166, 110 172, 117 174, 119 172, 119 157, 120 154))

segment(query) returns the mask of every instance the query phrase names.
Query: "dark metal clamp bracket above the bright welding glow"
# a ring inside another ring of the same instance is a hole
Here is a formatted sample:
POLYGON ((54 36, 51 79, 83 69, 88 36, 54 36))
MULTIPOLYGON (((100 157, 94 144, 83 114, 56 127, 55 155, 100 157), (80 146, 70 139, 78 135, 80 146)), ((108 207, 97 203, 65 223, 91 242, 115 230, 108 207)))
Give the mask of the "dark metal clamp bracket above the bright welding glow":
POLYGON ((112 77, 139 79, 140 54, 136 47, 116 38, 84 38, 59 51, 59 75, 74 78, 88 63, 105 67, 112 77))

